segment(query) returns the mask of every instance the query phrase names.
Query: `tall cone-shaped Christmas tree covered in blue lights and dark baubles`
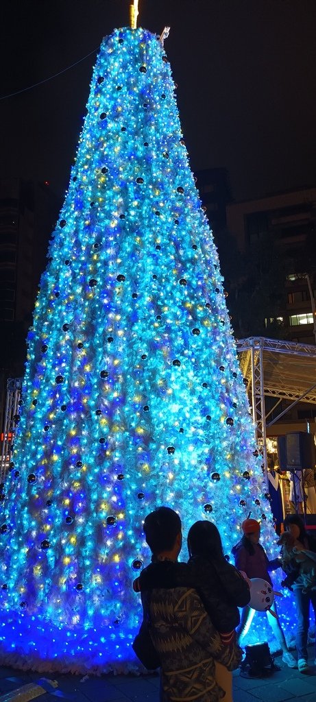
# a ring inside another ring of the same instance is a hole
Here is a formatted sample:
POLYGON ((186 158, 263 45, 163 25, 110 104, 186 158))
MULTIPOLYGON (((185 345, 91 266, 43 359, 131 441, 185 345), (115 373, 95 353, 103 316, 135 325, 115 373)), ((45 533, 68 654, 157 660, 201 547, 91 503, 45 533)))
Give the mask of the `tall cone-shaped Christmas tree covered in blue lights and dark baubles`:
POLYGON ((0 652, 21 667, 137 667, 132 582, 158 505, 185 531, 216 522, 227 553, 249 512, 275 544, 173 93, 156 36, 103 41, 29 332, 2 507, 0 652))

